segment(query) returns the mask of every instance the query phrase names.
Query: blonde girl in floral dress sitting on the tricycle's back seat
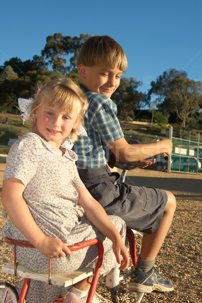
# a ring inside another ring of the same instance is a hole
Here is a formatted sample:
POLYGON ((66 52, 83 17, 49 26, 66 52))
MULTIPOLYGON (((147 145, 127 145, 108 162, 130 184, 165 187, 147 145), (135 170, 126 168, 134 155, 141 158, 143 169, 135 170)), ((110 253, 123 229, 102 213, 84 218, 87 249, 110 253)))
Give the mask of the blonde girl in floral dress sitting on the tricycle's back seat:
MULTIPOLYGON (((116 262, 121 270, 126 269, 125 223, 116 216, 109 219, 84 187, 75 165, 77 156, 69 148, 80 132, 86 108, 82 91, 70 79, 62 78, 48 82, 34 99, 25 101, 30 104, 23 106, 22 116, 24 120, 30 117, 32 132, 11 147, 2 189, 2 203, 9 215, 2 235, 29 240, 37 248, 18 246, 18 262, 41 273, 48 272, 48 257, 55 258, 53 273, 93 266, 95 245, 73 254, 68 245, 97 238, 105 248, 100 274, 106 275, 116 262)), ((88 289, 85 280, 77 283, 64 302, 79 302, 88 289)), ((62 287, 31 281, 26 301, 51 303, 64 294, 62 287)))

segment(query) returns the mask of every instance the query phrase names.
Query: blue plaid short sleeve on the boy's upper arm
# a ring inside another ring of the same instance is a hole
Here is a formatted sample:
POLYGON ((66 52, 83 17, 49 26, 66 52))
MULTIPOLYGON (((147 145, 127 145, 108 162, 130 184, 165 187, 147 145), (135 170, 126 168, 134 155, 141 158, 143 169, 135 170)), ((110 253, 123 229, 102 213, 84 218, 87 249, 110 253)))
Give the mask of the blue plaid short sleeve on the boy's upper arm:
POLYGON ((124 137, 117 118, 117 107, 110 98, 98 95, 89 111, 94 113, 90 123, 103 142, 110 143, 124 137))

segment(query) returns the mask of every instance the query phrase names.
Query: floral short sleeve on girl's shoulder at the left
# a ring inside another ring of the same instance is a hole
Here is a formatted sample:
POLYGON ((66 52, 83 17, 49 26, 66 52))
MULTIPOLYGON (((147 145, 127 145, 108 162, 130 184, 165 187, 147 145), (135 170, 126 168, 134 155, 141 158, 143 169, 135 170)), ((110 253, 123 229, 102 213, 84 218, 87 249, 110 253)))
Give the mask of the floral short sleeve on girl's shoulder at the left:
POLYGON ((30 133, 19 138, 9 151, 4 180, 17 178, 25 187, 35 175, 40 162, 40 139, 30 133))

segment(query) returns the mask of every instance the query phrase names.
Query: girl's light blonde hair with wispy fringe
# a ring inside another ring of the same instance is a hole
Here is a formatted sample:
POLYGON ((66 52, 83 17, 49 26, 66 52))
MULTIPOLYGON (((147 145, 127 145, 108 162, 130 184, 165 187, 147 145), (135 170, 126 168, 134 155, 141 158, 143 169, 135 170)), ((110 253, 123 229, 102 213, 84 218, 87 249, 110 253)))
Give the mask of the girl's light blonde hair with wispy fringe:
MULTIPOLYGON (((36 132, 36 109, 40 106, 51 106, 65 113, 77 112, 77 125, 83 124, 87 100, 80 87, 67 77, 60 77, 44 84, 31 105, 31 131, 36 132)), ((76 129, 71 131, 72 139, 77 139, 76 129)))

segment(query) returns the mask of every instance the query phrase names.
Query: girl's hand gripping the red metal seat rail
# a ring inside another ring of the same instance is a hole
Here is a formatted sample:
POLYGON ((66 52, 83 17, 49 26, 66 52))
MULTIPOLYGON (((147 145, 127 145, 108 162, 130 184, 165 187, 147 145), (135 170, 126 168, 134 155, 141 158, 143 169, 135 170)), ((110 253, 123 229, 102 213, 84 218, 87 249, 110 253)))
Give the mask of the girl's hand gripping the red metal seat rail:
POLYGON ((59 259, 61 257, 66 257, 66 255, 71 255, 72 253, 67 243, 54 237, 45 236, 39 244, 35 245, 35 247, 41 254, 49 258, 59 259))

